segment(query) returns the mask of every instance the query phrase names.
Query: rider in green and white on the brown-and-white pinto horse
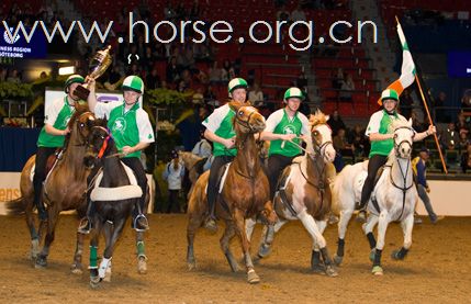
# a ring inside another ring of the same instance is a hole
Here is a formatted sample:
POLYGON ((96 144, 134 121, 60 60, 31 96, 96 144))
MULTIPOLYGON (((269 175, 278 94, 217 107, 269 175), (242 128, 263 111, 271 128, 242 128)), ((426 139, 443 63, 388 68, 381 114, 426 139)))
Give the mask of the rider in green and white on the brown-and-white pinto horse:
POLYGON ((260 136, 262 140, 272 140, 267 166, 270 200, 274 196, 280 173, 301 154, 301 148, 298 146, 301 144, 300 135, 310 134, 307 117, 298 111, 303 100, 304 93, 299 88, 288 89, 283 100, 285 106, 268 116, 267 127, 260 136))

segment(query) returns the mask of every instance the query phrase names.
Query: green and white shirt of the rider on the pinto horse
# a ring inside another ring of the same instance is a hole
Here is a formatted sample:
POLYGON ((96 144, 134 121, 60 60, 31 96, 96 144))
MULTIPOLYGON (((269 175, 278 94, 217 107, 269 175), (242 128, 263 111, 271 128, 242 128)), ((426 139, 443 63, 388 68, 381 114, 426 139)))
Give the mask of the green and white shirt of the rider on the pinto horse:
MULTIPOLYGON (((309 134, 309 120, 300 112, 296 112, 294 116, 290 119, 287 111, 280 109, 267 119, 267 127, 265 131, 272 132, 273 134, 295 134, 300 136, 301 134, 309 134)), ((299 138, 294 138, 293 142, 301 145, 301 139, 299 138)), ((269 156, 273 154, 293 157, 301 154, 301 148, 290 142, 284 142, 283 145, 283 140, 276 139, 271 140, 270 149, 268 150, 269 156)))

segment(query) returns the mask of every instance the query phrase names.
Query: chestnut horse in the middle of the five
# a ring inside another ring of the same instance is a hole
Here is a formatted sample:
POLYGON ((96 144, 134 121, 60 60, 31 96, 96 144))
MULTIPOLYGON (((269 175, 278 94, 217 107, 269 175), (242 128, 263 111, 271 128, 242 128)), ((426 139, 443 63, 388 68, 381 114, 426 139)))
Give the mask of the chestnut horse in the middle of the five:
MULTIPOLYGON (((217 196, 216 215, 218 218, 223 218, 226 224, 220 243, 232 271, 237 271, 238 264, 231 252, 229 241, 235 234, 239 236, 247 270, 247 281, 257 283, 260 278, 254 270, 250 243, 244 229, 245 218, 257 214, 260 214, 269 223, 274 223, 277 218, 269 198, 268 178, 261 169, 254 137, 255 133, 265 128, 265 119, 253 106, 244 106, 237 102, 231 102, 229 106, 236 113, 234 130, 236 132, 237 156, 227 169, 225 182, 217 196)), ((190 270, 195 268, 194 235, 208 214, 205 189, 209 173, 206 171, 198 179, 188 205, 187 263, 190 270)))

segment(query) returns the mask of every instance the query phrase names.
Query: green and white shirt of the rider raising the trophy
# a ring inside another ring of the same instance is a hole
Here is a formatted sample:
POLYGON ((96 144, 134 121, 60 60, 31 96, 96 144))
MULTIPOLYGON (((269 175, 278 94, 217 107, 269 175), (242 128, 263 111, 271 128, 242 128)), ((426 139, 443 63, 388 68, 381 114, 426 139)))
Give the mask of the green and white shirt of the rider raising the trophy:
MULTIPOLYGON (((138 143, 154 143, 154 131, 149 117, 139 104, 134 104, 125 111, 124 102, 97 103, 94 113, 99 117, 109 117, 108 127, 121 151, 123 147, 134 147, 138 143)), ((141 157, 141 150, 125 157, 141 157)))

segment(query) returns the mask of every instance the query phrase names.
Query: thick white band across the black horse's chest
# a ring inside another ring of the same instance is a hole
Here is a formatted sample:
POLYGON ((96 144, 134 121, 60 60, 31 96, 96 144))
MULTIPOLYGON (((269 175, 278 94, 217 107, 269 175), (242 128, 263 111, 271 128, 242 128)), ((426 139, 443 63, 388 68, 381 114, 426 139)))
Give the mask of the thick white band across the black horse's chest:
POLYGON ((115 188, 102 188, 100 187, 100 182, 103 178, 103 171, 101 171, 97 180, 94 181, 93 190, 90 194, 90 200, 93 202, 97 201, 121 201, 127 199, 136 199, 143 195, 143 190, 137 184, 136 177, 134 176, 133 170, 121 162, 123 165, 124 170, 126 171, 127 178, 130 179, 131 184, 115 187, 115 188))

